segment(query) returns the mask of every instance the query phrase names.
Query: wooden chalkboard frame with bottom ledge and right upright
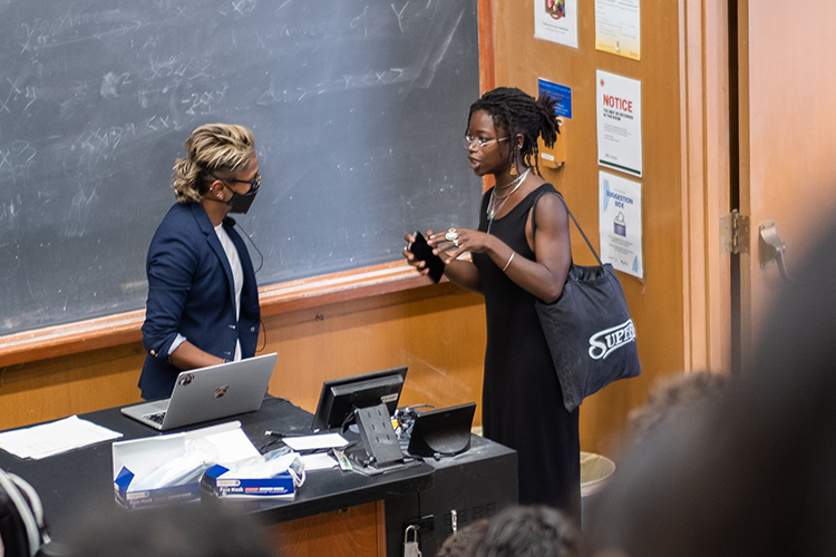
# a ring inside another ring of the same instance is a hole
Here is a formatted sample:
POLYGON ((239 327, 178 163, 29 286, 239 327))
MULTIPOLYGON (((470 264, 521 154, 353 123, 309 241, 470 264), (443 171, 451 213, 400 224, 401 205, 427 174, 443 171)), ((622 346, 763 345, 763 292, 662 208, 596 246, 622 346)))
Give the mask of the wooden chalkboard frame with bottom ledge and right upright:
MULTIPOLYGON (((492 11, 492 0, 478 0, 482 91, 495 86, 492 11)), ((405 262, 395 262, 264 286, 260 289, 261 309, 264 315, 275 315, 431 284, 405 262)), ((449 284, 434 287, 441 294, 449 284)), ((0 368, 139 342, 144 319, 145 311, 136 310, 0 336, 0 368)))

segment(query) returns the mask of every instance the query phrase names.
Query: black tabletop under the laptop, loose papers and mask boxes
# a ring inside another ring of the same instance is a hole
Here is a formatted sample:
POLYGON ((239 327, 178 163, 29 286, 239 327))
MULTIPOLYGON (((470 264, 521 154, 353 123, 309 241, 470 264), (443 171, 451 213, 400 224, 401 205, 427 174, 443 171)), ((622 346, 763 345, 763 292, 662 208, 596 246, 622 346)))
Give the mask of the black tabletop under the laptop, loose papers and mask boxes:
MULTIPOLYGON (((124 434, 118 440, 154 437, 159 433, 119 412, 119 408, 80 414, 79 418, 124 434)), ((239 420, 253 444, 262 452, 276 448, 278 438, 311 433, 313 416, 284 399, 268 397, 256 412, 203 422, 177 431, 188 431, 214 423, 239 420)), ((38 491, 45 517, 55 539, 62 539, 78 526, 78 519, 90 508, 123 511, 114 498, 111 443, 103 442, 42 460, 21 460, 0 450, 0 468, 26 479, 38 491)), ((415 494, 432 486, 434 467, 415 462, 380 473, 366 476, 339 469, 314 470, 292 500, 223 500, 223 505, 244 512, 257 512, 268 522, 303 518, 367 502, 415 494)), ((138 510, 136 512, 142 512, 138 510)))

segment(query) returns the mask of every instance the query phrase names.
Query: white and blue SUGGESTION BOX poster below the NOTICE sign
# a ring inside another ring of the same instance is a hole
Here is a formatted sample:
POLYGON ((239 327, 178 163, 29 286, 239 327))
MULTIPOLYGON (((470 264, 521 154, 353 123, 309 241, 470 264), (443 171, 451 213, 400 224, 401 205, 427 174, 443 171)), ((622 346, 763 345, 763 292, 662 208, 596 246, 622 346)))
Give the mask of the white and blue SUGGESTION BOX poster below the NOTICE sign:
POLYGON ((599 202, 601 261, 643 280, 641 184, 601 170, 599 202))

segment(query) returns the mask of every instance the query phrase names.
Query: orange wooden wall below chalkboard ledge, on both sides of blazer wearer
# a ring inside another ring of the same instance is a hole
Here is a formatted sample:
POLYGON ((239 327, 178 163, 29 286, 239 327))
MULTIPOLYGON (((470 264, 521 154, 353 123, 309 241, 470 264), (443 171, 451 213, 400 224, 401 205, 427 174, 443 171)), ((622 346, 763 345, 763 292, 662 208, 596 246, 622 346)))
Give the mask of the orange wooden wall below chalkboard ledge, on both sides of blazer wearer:
MULTIPOLYGON (((271 394, 314 411, 325 379, 408 365, 404 404, 482 401, 482 296, 450 284, 266 316, 271 394)), ((140 343, 0 369, 0 430, 138 402, 140 343)), ((479 419, 477 417, 477 422, 479 419)))

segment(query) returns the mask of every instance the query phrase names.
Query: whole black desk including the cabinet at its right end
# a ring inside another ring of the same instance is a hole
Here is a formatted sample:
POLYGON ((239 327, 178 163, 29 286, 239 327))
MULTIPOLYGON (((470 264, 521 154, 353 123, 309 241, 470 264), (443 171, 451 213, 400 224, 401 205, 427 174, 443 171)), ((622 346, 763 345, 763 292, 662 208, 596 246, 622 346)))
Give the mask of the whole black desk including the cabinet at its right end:
MULTIPOLYGON (((165 434, 126 418, 118 408, 80 418, 124 433, 120 440, 165 434)), ((276 440, 265 436, 265 431, 309 434, 313 417, 284 399, 268 397, 257 412, 200 423, 183 431, 231 420, 239 420, 253 444, 265 452, 276 440)), ((472 449, 463 455, 438 461, 428 459, 378 476, 339 469, 312 471, 293 500, 224 500, 223 504, 243 512, 257 514, 263 522, 281 527, 279 522, 293 524, 289 521, 385 501, 385 525, 378 525, 377 536, 381 536, 383 527, 386 539, 379 541, 378 549, 380 544, 386 548, 378 554, 400 555, 406 525, 430 517, 435 524, 430 529, 425 524, 420 538, 425 557, 431 557, 453 530, 454 510, 457 511, 458 526, 464 527, 517 501, 516 452, 478 437, 472 437, 472 449)), ((109 442, 43 460, 20 460, 0 451, 0 468, 21 476, 35 487, 43 502, 49 531, 56 540, 67 539, 90 507, 128 512, 114 499, 109 442)), ((310 554, 308 549, 298 553, 310 554)), ((327 555, 322 551, 315 554, 327 555)))

